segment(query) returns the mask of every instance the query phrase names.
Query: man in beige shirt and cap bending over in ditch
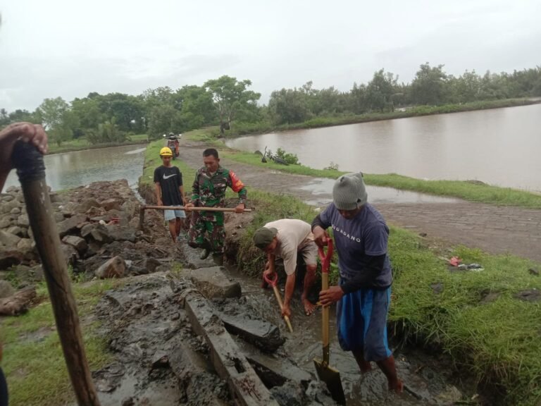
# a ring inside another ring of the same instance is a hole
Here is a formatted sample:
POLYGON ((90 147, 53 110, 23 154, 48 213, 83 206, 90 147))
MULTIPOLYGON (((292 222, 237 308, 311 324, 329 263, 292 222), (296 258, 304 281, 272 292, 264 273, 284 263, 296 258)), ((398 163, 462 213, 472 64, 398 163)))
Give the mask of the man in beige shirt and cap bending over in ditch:
POLYGON ((295 287, 295 271, 297 269, 297 254, 301 254, 306 263, 306 276, 301 300, 307 316, 313 313, 315 307, 308 300, 308 293, 316 278, 318 264, 318 247, 313 242, 311 226, 301 220, 282 219, 266 223, 254 233, 254 244, 267 253, 267 264, 263 272, 268 278, 275 273, 275 259, 284 260, 285 297, 282 316, 291 316, 290 302, 295 287))

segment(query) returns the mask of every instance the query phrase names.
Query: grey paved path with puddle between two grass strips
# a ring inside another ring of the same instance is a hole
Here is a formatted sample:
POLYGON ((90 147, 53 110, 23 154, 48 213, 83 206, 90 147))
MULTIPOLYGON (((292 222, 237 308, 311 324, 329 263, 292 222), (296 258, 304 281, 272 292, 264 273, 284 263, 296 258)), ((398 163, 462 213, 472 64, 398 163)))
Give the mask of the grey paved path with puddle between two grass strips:
MULTIPOLYGON (((201 145, 185 143, 181 147, 180 159, 197 168, 202 164, 202 152, 201 145)), ((330 202, 330 189, 317 195, 313 193, 311 185, 321 185, 320 178, 282 173, 228 159, 221 162, 252 187, 297 196, 310 204, 330 202)), ((186 183, 189 187, 189 182, 186 183)), ((440 238, 453 245, 476 247, 494 254, 511 253, 541 262, 541 210, 463 200, 454 203, 377 202, 374 206, 389 223, 427 233, 429 237, 440 238)))

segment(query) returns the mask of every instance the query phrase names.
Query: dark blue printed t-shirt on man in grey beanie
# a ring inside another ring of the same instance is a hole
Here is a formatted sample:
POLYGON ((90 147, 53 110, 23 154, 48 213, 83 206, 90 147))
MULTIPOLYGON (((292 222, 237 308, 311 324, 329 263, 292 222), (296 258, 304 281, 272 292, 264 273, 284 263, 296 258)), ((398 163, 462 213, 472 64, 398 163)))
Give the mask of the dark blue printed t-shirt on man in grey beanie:
POLYGON ((331 227, 338 251, 340 278, 351 281, 366 266, 367 255, 385 254, 383 271, 373 281, 373 288, 387 288, 392 283, 391 263, 387 254, 389 228, 383 216, 371 204, 366 203, 351 220, 344 219, 334 203, 331 203, 320 219, 325 228, 331 227))

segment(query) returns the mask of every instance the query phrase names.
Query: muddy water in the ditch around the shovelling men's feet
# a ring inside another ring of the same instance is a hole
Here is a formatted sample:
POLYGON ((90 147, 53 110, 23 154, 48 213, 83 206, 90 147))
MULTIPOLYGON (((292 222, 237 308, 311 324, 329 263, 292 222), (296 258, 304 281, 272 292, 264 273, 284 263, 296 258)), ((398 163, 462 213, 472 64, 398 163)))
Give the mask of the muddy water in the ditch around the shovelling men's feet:
MULTIPOLYGON (((271 358, 271 364, 284 364, 283 369, 289 369, 292 376, 306 379, 306 375, 317 379, 313 367, 313 359, 321 358, 321 312, 316 311, 312 316, 305 316, 300 301, 300 293, 295 292, 292 302, 293 333, 280 318, 278 304, 272 290, 261 289, 261 281, 248 278, 233 268, 225 271, 232 279, 240 281, 243 289, 241 300, 225 305, 225 312, 233 314, 251 314, 259 316, 280 326, 285 344, 271 358), (292 365, 290 365, 292 364, 292 365), (303 378, 304 376, 304 378, 303 378)), ((281 286, 283 288, 283 285, 281 286)), ((283 290, 282 290, 283 295, 283 290)), ((454 375, 444 361, 436 359, 418 349, 404 348, 395 350, 390 343, 397 361, 400 378, 404 381, 405 390, 402 395, 390 393, 387 390, 387 380, 383 373, 373 363, 373 370, 361 375, 359 367, 350 352, 344 352, 337 344, 335 314, 331 311, 330 319, 330 365, 340 371, 342 386, 347 398, 347 405, 453 405, 460 400, 471 398, 471 390, 457 388, 454 375)), ((238 339, 237 339, 238 340, 238 339)), ((240 341, 240 340, 239 340, 240 341)), ((251 345, 240 343, 247 354, 253 354, 251 345)), ((249 357, 249 355, 247 355, 249 357)), ((259 360, 265 355, 259 355, 259 360)), ((267 360, 268 362, 268 360, 267 360)), ((280 367, 278 367, 280 369, 280 367)))

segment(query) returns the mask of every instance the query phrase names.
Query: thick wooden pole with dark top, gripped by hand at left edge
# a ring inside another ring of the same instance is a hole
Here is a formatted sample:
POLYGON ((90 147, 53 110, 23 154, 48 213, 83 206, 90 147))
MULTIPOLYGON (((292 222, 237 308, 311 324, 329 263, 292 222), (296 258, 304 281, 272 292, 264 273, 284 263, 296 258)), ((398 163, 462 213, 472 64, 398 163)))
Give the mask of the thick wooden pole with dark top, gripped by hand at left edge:
POLYGON ((17 142, 11 159, 23 188, 28 219, 39 257, 42 259, 56 329, 77 403, 80 406, 99 406, 85 355, 68 269, 53 218, 54 211, 45 182, 43 156, 32 145, 17 142))

